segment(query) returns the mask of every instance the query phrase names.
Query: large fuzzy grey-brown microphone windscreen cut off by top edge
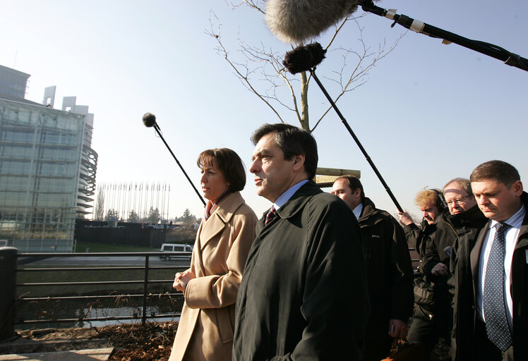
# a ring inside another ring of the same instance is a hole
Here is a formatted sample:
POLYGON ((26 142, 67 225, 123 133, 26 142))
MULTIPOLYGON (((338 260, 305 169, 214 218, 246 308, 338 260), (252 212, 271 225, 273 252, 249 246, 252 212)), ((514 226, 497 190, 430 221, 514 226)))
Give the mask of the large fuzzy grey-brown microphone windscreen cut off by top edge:
POLYGON ((356 11, 361 0, 268 0, 265 22, 283 42, 313 39, 356 11))

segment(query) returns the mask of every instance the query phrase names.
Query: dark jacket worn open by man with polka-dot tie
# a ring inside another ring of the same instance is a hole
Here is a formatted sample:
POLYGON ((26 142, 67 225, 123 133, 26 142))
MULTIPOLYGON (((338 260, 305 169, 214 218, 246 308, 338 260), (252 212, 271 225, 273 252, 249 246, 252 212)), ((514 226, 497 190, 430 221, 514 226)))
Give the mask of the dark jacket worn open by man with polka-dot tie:
MULTIPOLYGON (((521 196, 528 210, 528 194, 521 196)), ((453 360, 474 360, 476 322, 476 286, 482 242, 491 221, 484 219, 479 228, 460 235, 451 257, 455 281, 453 315, 453 360)), ((528 360, 528 214, 524 216, 512 257, 510 290, 513 301, 513 350, 515 360, 528 360)))

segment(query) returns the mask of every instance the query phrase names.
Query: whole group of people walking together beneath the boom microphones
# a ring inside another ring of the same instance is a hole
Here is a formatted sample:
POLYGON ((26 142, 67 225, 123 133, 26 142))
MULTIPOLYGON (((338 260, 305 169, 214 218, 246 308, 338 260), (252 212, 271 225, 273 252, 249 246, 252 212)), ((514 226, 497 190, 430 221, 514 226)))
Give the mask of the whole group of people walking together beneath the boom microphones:
POLYGON ((305 130, 265 124, 251 140, 249 171, 272 202, 260 219, 240 195, 240 157, 198 157, 208 204, 174 279, 185 304, 170 361, 380 361, 402 339, 412 360, 439 340, 452 360, 528 360, 528 195, 512 165, 418 192, 421 224, 400 212, 400 225, 358 178, 320 190, 305 130))

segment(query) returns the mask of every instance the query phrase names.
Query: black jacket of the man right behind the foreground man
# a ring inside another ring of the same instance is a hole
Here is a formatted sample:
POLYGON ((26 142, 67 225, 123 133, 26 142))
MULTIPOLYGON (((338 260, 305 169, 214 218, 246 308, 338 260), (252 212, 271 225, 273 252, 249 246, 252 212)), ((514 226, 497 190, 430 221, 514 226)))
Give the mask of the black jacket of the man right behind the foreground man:
POLYGON ((366 343, 371 344, 388 339, 389 319, 411 317, 413 272, 403 228, 388 212, 365 198, 358 221, 372 310, 366 343))

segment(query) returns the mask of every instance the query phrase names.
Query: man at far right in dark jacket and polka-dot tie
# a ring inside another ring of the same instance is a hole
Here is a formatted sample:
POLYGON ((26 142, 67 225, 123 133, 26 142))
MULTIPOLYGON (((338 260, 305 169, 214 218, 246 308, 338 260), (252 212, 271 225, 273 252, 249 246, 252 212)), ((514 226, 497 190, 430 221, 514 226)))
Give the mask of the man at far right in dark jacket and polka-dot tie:
POLYGON ((504 161, 477 166, 470 180, 489 221, 453 246, 453 360, 528 360, 528 194, 504 161))

